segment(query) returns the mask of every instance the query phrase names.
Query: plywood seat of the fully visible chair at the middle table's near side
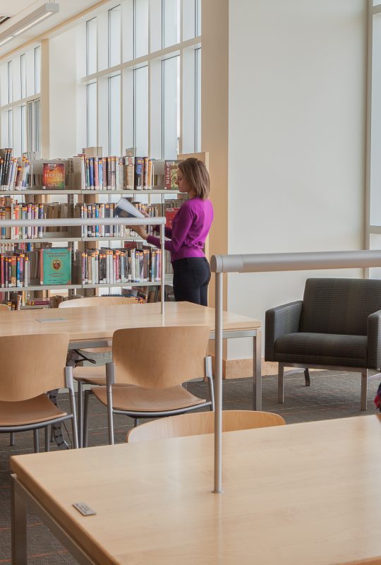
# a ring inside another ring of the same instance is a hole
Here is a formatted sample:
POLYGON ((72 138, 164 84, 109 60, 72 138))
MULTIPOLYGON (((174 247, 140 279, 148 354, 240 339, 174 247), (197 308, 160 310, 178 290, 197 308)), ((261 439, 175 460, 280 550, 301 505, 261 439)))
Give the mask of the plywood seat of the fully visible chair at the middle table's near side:
MULTIPOLYGON (((106 387, 92 388, 92 392, 104 405, 107 405, 106 387)), ((112 389, 113 408, 126 412, 167 412, 205 402, 205 399, 193 396, 183 386, 171 386, 171 388, 114 386, 112 389)))

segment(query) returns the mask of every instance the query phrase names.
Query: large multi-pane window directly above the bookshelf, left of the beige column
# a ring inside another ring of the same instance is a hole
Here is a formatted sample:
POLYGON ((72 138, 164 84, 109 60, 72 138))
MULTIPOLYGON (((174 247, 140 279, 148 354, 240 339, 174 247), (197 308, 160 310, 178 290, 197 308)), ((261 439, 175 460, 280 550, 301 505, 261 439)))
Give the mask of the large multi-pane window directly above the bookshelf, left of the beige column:
MULTIPOLYGON (((201 0, 123 0, 87 20, 84 145, 200 151, 201 0)), ((81 145, 82 143, 82 145, 81 145)))

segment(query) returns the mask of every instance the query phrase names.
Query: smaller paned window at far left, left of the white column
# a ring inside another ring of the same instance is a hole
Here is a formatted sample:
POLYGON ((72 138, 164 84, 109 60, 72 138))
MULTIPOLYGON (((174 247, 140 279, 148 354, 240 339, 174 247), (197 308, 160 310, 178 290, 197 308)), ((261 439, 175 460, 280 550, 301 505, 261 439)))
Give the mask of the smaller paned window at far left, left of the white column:
POLYGON ((28 49, 0 66, 0 146, 40 151, 41 47, 28 49))

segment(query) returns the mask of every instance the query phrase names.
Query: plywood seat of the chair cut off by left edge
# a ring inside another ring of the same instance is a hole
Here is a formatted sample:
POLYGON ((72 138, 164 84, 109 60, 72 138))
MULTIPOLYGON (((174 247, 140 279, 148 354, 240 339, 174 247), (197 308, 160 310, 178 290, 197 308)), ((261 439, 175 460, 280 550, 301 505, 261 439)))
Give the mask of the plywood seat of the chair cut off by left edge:
POLYGON ((66 416, 46 394, 20 402, 0 402, 0 427, 24 426, 66 416))

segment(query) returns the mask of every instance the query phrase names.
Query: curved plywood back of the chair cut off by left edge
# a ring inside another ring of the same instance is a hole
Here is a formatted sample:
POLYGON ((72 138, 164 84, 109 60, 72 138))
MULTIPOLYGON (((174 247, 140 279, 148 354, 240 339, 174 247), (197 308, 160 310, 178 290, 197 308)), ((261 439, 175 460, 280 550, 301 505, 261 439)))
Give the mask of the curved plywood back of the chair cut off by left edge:
POLYGON ((65 386, 68 333, 0 338, 0 400, 17 402, 65 386))

